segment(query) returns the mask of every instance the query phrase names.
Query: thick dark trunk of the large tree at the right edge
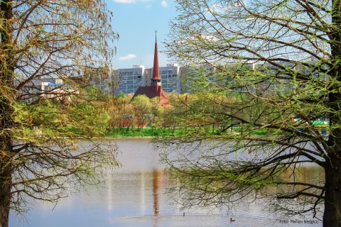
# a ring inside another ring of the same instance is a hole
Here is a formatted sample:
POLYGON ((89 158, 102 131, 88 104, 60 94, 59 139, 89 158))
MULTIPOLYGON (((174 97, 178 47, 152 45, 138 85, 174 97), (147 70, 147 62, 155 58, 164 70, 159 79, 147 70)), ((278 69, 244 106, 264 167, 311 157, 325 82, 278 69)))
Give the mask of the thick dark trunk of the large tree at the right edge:
MULTIPOLYGON (((341 82, 341 1, 332 0, 330 48, 333 56, 330 77, 341 82)), ((340 87, 330 87, 330 136, 328 158, 325 162, 325 211, 324 227, 341 227, 341 93, 340 87)))

